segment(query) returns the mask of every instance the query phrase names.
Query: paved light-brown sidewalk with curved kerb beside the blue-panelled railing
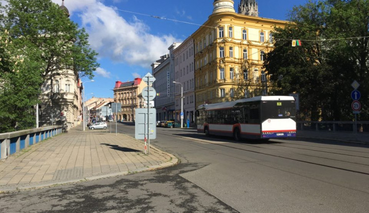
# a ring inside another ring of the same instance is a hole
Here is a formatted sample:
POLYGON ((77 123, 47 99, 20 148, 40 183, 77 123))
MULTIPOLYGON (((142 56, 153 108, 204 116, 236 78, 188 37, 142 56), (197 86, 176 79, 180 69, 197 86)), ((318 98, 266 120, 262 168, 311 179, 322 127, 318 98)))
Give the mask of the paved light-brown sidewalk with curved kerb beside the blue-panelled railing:
POLYGON ((178 159, 106 130, 68 133, 41 141, 0 161, 0 192, 94 180, 172 166, 178 159))

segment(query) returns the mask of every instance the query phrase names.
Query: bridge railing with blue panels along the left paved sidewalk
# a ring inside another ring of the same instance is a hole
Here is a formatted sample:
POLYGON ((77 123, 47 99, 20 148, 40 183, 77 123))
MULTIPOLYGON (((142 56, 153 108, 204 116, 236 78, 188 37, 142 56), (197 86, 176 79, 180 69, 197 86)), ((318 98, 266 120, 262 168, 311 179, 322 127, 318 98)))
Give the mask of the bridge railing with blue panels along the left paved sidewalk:
POLYGON ((35 143, 62 133, 62 126, 49 126, 11 133, 0 133, 0 159, 6 159, 35 143))

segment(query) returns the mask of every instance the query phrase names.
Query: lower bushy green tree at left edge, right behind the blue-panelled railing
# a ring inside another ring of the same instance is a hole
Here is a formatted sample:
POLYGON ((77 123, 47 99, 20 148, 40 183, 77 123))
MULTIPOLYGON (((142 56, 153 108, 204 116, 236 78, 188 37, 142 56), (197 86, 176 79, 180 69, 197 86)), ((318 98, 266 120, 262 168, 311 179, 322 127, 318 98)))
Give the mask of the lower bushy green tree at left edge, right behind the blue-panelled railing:
POLYGON ((38 49, 30 47, 20 48, 11 42, 7 31, 0 31, 0 133, 34 125, 31 109, 38 102, 44 62, 32 57, 38 49))

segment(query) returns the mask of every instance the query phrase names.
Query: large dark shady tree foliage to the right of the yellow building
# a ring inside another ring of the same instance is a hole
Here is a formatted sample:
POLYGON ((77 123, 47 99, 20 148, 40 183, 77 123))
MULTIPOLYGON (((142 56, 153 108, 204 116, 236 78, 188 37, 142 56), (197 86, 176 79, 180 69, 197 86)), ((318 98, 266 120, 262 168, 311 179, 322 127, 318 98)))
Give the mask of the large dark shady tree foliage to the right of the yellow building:
MULTIPOLYGON (((342 38, 368 36, 368 5, 368 0, 310 0, 294 7, 293 24, 273 34, 275 49, 264 65, 279 86, 276 94, 300 94, 303 119, 353 117, 349 87, 355 79, 368 80, 368 42, 342 38), (291 47, 291 39, 301 39, 302 46, 291 47)), ((367 97, 368 89, 364 93, 367 97)))

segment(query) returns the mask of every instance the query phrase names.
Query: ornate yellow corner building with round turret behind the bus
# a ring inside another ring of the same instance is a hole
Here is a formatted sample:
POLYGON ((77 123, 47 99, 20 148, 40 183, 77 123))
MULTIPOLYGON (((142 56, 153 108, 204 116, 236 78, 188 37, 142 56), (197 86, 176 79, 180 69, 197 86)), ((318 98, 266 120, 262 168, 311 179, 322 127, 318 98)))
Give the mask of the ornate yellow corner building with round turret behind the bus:
POLYGON ((288 22, 238 14, 233 0, 215 0, 213 14, 192 35, 196 107, 267 95, 263 67, 273 49, 274 27, 288 22))

